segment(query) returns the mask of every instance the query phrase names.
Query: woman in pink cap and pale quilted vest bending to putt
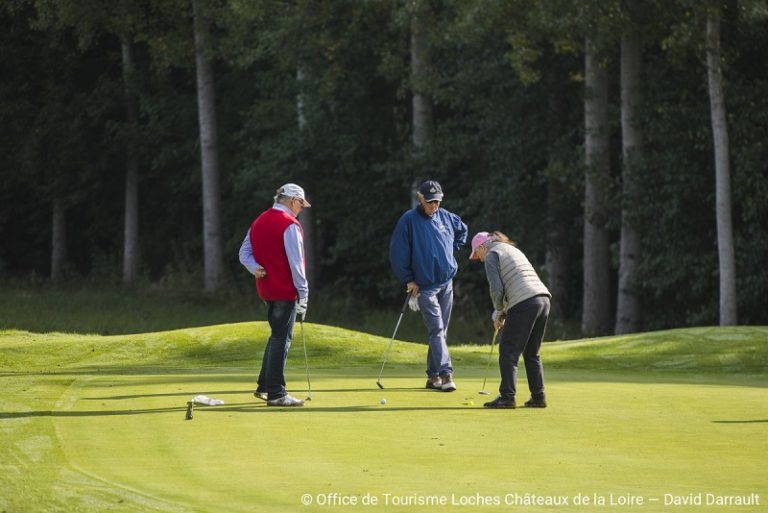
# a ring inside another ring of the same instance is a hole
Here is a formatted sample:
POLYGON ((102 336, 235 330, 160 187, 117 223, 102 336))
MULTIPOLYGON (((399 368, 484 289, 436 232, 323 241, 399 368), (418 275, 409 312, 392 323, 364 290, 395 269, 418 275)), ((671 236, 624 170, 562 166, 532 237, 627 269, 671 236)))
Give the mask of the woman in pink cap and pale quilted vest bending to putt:
POLYGON ((470 260, 485 264, 485 275, 493 303, 494 329, 499 341, 499 396, 486 408, 514 408, 517 393, 517 364, 525 362, 531 397, 528 408, 546 408, 544 367, 539 350, 549 317, 552 295, 528 258, 501 232, 479 232, 472 238, 470 260))

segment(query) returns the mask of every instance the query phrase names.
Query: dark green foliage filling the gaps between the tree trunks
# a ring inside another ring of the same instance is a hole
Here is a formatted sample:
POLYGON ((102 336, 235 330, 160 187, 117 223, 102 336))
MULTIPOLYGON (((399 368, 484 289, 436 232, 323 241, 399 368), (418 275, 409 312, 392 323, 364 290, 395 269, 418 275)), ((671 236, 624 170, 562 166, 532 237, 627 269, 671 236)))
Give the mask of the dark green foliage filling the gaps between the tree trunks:
MULTIPOLYGON (((209 1, 229 282, 250 281, 237 250, 274 190, 307 189, 317 247, 315 291, 388 308, 401 286, 387 248, 414 180, 434 178, 470 231, 517 240, 543 276, 549 234, 572 258, 566 305, 580 308, 583 196, 582 45, 589 34, 614 77, 614 171, 620 168, 616 50, 631 19, 645 34, 642 112, 648 156, 641 197, 621 201, 644 242, 636 283, 648 328, 717 319, 714 172, 700 2, 209 1), (411 144, 410 23, 428 31, 431 144, 411 144), (301 105, 301 107, 299 106, 301 105), (299 125, 299 110, 303 124, 299 125)), ((764 2, 723 2, 731 113, 739 310, 765 323, 764 2)), ((201 267, 200 170, 186 0, 48 2, 0 7, 0 276, 46 275, 50 203, 68 204, 70 267, 119 275, 124 144, 120 35, 134 41, 142 272, 186 286, 201 267), (117 6, 117 7, 116 7, 117 6)), ((617 174, 617 173, 615 173, 617 174)), ((618 184, 611 184, 618 191, 618 184)), ((482 270, 460 260, 457 315, 489 308, 482 270)), ((567 325, 569 319, 554 320, 567 325)), ((476 337, 482 328, 472 328, 476 337)), ((469 337, 468 337, 469 338, 469 337)))

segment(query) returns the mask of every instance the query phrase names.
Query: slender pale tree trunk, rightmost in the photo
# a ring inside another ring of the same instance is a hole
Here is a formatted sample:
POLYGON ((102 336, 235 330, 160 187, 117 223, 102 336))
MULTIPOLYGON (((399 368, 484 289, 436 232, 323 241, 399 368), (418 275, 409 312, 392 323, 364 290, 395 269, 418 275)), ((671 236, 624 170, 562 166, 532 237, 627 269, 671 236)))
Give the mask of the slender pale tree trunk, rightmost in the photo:
POLYGON ((720 11, 707 15, 707 77, 715 147, 715 211, 717 252, 720 267, 720 325, 737 323, 736 263, 731 220, 731 168, 728 145, 723 77, 720 66, 720 11))

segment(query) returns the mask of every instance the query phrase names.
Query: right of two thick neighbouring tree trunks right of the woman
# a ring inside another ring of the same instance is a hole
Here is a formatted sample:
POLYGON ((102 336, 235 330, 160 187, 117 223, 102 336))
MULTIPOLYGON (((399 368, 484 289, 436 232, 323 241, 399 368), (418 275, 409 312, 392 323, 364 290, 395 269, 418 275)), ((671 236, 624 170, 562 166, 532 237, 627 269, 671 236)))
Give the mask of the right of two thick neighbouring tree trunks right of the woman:
MULTIPOLYGON (((632 9, 634 2, 629 2, 632 9)), ((619 289, 616 302, 616 334, 634 333, 640 329, 641 309, 635 277, 640 261, 640 237, 633 225, 640 177, 638 161, 642 160, 642 135, 638 123, 640 73, 643 44, 638 27, 631 23, 621 41, 621 134, 622 134, 622 212, 619 289)))

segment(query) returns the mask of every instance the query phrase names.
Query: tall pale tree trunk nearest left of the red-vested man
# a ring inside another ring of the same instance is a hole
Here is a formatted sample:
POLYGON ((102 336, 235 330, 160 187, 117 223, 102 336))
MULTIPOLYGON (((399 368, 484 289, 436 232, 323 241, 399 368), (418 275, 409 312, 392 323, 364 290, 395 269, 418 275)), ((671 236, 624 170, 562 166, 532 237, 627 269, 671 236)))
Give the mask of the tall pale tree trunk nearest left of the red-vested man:
POLYGON ((200 155, 203 176, 203 249, 205 290, 221 288, 223 276, 221 236, 221 192, 214 95, 213 58, 204 0, 192 0, 195 25, 197 108, 200 125, 200 155))

